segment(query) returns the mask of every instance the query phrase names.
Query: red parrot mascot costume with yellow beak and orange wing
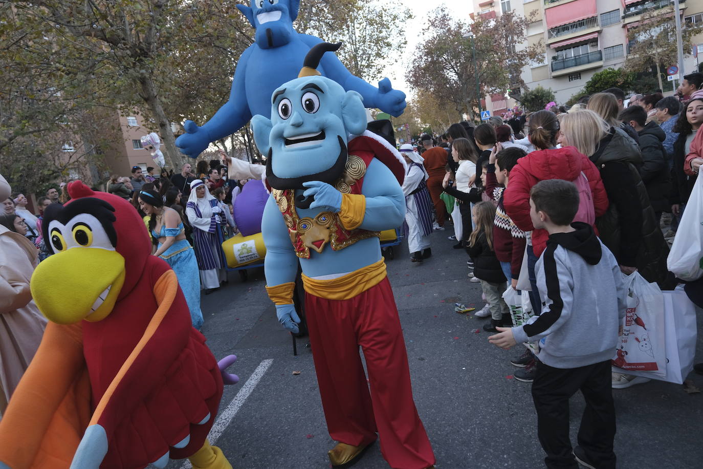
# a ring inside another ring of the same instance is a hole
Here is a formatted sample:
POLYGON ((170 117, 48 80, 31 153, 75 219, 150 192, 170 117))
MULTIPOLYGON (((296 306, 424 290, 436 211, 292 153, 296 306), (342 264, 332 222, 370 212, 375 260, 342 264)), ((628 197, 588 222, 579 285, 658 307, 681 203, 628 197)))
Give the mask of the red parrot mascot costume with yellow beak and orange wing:
POLYGON ((54 255, 31 288, 50 322, 0 420, 0 468, 231 469, 207 442, 224 374, 176 274, 126 200, 68 192, 44 215, 54 255))

